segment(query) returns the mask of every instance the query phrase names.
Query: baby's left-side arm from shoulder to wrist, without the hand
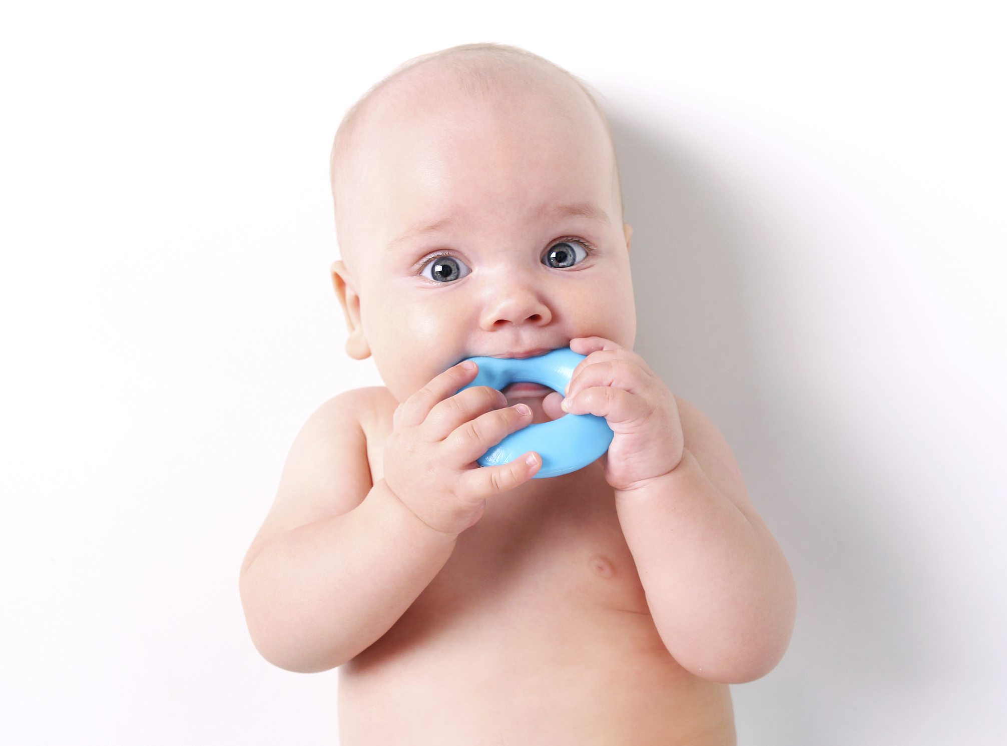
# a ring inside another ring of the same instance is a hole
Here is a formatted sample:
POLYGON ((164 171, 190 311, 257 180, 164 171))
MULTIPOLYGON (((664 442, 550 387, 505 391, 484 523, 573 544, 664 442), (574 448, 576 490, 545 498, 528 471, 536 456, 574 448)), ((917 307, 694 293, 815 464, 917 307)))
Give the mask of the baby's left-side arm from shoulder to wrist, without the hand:
POLYGON ((384 482, 371 484, 361 421, 388 406, 383 394, 349 392, 312 415, 242 567, 252 639, 283 668, 325 670, 355 655, 451 554, 451 537, 431 531, 384 482))

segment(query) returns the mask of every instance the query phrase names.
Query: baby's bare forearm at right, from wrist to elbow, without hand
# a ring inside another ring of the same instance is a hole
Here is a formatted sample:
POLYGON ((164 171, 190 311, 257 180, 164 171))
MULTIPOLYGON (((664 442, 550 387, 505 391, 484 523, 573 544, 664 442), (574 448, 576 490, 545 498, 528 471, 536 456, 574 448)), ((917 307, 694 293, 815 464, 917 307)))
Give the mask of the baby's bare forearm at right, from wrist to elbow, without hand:
POLYGON ((796 601, 789 567, 761 518, 721 493, 688 451, 672 472, 617 491, 616 507, 676 659, 724 683, 771 670, 789 641, 796 601))

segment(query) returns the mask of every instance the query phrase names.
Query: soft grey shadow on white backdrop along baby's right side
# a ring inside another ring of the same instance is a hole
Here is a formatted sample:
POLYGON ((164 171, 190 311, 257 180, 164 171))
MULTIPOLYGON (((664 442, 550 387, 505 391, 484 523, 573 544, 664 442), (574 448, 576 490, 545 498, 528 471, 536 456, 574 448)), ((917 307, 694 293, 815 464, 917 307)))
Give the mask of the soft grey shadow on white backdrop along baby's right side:
POLYGON ((734 689, 741 742, 849 743, 851 716, 869 727, 939 668, 920 622, 925 589, 874 509, 874 475, 760 358, 758 335, 785 333, 752 322, 773 292, 746 281, 746 267, 770 261, 758 256, 764 239, 684 147, 618 116, 611 125, 633 227, 636 351, 725 434, 798 581, 787 655, 734 689))

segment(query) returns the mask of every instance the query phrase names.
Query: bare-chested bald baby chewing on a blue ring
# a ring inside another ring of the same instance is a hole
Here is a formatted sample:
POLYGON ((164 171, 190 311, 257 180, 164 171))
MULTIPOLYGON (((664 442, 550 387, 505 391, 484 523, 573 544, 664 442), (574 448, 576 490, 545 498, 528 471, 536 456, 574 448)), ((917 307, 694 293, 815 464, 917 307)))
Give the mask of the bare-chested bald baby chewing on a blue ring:
POLYGON ((786 561, 717 429, 632 352, 631 232, 603 114, 489 44, 413 60, 332 151, 346 351, 386 388, 308 420, 242 570, 263 655, 341 665, 343 746, 730 744, 770 670, 786 561), (566 392, 475 387, 479 355, 587 355, 566 392), (475 460, 565 413, 608 453, 532 479, 475 460))

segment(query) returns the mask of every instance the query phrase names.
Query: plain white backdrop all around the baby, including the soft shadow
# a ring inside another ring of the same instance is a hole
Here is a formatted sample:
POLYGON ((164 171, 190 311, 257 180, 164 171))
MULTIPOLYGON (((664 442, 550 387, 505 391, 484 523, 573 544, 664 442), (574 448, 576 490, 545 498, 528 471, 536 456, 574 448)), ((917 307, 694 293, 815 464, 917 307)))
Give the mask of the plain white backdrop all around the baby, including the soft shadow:
POLYGON ((1005 28, 993 2, 8 4, 0 741, 333 744, 242 556, 341 351, 331 136, 471 41, 606 98, 637 349, 798 578, 744 745, 1007 728, 1005 28))

